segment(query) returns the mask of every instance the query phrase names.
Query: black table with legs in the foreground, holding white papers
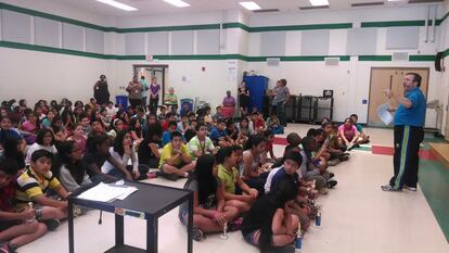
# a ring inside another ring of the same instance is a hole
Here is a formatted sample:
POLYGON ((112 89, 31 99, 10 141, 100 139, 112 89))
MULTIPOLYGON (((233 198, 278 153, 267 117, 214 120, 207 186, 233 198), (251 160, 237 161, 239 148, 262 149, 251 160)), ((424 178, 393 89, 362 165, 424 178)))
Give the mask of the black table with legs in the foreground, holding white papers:
POLYGON ((75 252, 74 243, 74 205, 81 205, 90 208, 102 210, 115 213, 115 246, 106 252, 157 252, 157 222, 161 216, 172 208, 189 202, 189 223, 188 223, 188 253, 192 253, 192 228, 193 228, 193 192, 189 190, 156 186, 142 182, 126 181, 127 186, 132 186, 139 190, 130 194, 125 200, 114 202, 98 202, 78 199, 77 192, 68 198, 68 251, 75 252), (126 245, 124 243, 124 214, 146 219, 146 251, 126 245))

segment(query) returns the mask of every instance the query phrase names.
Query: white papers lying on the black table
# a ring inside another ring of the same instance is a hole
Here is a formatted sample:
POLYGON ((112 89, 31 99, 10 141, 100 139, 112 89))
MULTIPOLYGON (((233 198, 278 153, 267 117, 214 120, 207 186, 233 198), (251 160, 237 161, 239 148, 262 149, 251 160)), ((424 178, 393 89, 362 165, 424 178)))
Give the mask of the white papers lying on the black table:
POLYGON ((100 182, 95 187, 82 192, 78 195, 79 199, 112 202, 114 200, 125 200, 132 192, 137 191, 136 187, 127 187, 125 185, 107 185, 100 182))

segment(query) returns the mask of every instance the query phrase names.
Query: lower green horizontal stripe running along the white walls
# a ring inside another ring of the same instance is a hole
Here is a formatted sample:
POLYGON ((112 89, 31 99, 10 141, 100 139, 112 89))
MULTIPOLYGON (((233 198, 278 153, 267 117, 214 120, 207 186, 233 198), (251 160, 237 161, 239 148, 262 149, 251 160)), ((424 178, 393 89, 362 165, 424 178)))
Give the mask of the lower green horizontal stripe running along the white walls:
MULTIPOLYGON (((18 42, 11 42, 11 41, 0 41, 0 47, 38 51, 38 52, 75 55, 75 56, 93 58, 93 59, 102 59, 102 60, 123 60, 123 61, 124 60, 134 60, 134 61, 145 60, 145 55, 101 54, 101 53, 82 52, 82 51, 77 51, 77 50, 51 48, 51 47, 44 47, 44 46, 18 43, 18 42)), ((449 55, 449 49, 445 51, 445 56, 447 55, 449 55)), ((350 61, 349 55, 312 55, 312 56, 246 56, 242 54, 153 55, 153 59, 161 60, 161 61, 241 60, 241 61, 246 61, 246 62, 266 62, 268 58, 279 58, 281 62, 322 62, 326 58, 339 58, 339 61, 343 61, 343 62, 350 61)), ((433 62, 435 61, 435 55, 410 55, 409 60, 433 62)), ((392 55, 360 55, 359 61, 392 61, 392 55)))

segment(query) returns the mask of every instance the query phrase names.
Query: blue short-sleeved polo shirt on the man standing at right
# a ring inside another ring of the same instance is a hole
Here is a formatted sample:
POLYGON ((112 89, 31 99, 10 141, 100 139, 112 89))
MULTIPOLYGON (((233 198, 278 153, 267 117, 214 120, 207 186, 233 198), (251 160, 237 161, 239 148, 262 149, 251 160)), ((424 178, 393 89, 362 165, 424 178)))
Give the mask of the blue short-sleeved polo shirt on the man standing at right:
POLYGON ((412 102, 412 106, 407 109, 399 104, 395 114, 395 126, 424 127, 426 101, 423 91, 415 87, 407 91, 405 97, 412 102))

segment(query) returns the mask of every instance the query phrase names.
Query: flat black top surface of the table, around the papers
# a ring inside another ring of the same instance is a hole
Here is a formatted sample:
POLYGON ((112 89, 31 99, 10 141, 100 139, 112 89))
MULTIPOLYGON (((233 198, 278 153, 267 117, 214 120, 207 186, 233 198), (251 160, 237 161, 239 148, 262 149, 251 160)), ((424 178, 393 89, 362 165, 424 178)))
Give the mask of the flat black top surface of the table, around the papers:
POLYGON ((70 197, 69 201, 73 204, 95 207, 108 212, 114 212, 116 207, 119 207, 142 212, 149 215, 161 216, 177 205, 181 204, 182 202, 188 201, 189 195, 193 194, 193 192, 189 190, 151 184, 126 181, 126 185, 136 187, 139 190, 134 191, 125 200, 115 200, 110 203, 98 202, 78 199, 76 198, 79 194, 78 193, 77 195, 70 197))

